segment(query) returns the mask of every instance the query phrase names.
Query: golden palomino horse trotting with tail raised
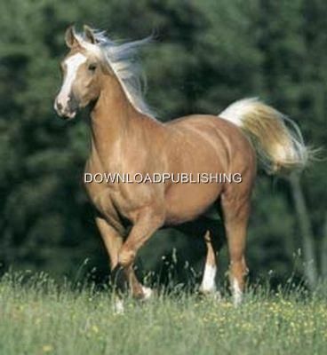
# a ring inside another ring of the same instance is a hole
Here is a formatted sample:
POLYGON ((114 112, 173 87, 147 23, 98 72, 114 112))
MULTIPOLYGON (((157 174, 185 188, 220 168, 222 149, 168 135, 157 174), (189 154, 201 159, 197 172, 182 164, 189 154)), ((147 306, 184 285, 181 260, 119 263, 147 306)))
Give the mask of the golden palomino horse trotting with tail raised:
MULTIPOLYGON (((92 145, 85 167, 89 176, 166 174, 159 183, 135 179, 85 184, 111 269, 124 271, 121 275, 129 281, 133 296, 150 296, 151 290, 140 284, 132 268, 140 247, 164 225, 180 225, 203 215, 211 205, 220 205, 231 290, 238 304, 247 272, 244 248, 256 154, 268 172, 289 172, 306 165, 307 148, 297 126, 258 99, 236 101, 219 116, 192 114, 168 123, 157 121, 142 98, 134 60, 144 42, 119 44, 88 27, 82 34, 68 28, 69 52, 61 62, 63 84, 54 104, 57 113, 68 119, 78 108, 91 106, 92 145), (173 181, 173 175, 182 173, 238 174, 242 182, 173 181)), ((216 238, 205 234, 204 293, 216 291, 212 242, 216 238)))

